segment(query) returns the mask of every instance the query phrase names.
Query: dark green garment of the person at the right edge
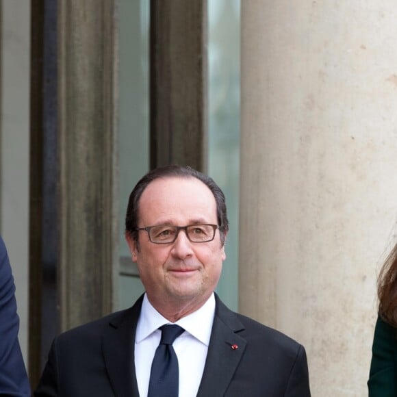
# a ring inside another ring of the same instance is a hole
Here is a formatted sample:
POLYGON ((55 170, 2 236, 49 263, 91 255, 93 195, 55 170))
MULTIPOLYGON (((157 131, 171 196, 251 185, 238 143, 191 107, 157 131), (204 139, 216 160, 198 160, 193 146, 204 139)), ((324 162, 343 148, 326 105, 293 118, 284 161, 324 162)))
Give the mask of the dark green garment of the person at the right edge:
POLYGON ((397 396, 397 330, 378 318, 372 344, 369 397, 397 396))

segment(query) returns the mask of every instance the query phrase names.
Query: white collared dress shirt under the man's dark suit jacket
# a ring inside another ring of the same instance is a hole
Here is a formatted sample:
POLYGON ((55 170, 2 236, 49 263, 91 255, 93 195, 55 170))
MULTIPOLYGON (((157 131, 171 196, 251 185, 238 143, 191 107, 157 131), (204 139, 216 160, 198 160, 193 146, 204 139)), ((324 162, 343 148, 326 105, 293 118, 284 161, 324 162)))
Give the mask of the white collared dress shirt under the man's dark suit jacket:
MULTIPOLYGON (((175 322, 185 329, 172 344, 179 363, 179 397, 196 397, 199 391, 214 314, 213 293, 199 310, 175 322)), ((158 328, 164 324, 171 323, 151 305, 144 294, 135 337, 135 370, 141 397, 147 397, 151 365, 162 333, 158 328)))

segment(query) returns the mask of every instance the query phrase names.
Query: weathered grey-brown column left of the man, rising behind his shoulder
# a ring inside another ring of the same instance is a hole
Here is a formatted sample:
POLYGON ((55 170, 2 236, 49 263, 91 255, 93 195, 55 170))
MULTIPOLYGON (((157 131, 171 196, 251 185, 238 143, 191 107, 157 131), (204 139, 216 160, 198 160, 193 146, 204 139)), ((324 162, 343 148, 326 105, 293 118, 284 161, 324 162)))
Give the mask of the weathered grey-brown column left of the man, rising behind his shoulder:
POLYGON ((60 322, 112 311, 117 252, 113 0, 58 4, 60 322))

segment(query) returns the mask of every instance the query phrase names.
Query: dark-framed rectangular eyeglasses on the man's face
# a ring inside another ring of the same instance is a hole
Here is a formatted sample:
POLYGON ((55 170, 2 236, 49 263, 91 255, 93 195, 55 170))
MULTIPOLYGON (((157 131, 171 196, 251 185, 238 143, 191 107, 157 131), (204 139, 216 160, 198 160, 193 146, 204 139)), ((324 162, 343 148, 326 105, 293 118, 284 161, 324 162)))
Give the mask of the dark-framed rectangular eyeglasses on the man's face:
POLYGON ((208 223, 203 225, 158 225, 136 228, 136 230, 146 230, 149 234, 149 240, 155 244, 170 244, 175 242, 181 230, 185 231, 191 242, 209 242, 214 240, 216 229, 218 229, 218 225, 210 225, 208 223))

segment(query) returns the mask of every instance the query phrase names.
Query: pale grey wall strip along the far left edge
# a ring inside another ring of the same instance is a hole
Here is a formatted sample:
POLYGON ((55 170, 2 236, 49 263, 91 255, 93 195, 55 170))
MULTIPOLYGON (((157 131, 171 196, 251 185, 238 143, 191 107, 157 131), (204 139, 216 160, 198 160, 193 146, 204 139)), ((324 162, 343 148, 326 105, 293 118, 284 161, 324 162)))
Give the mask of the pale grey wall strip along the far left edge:
POLYGON ((1 235, 8 248, 27 364, 30 1, 2 1, 1 235))

